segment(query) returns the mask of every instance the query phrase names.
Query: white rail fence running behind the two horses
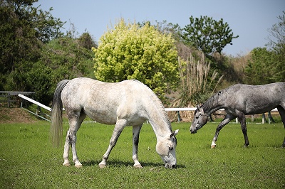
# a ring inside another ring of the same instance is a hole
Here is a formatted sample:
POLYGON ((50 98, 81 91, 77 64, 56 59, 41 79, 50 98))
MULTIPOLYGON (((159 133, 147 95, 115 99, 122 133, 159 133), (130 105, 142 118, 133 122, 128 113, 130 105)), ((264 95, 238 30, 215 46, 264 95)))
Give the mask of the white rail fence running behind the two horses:
MULTIPOLYGON (((29 97, 26 97, 26 96, 24 96, 24 95, 21 95, 21 94, 19 94, 18 96, 21 97, 22 99, 26 99, 28 102, 32 102, 33 104, 38 105, 38 107, 42 107, 43 109, 46 109, 46 110, 48 110, 48 111, 51 112, 51 108, 50 108, 50 107, 47 107, 46 105, 41 104, 40 102, 36 102, 36 100, 33 100, 33 99, 31 99, 31 98, 29 98, 29 97)), ((165 108, 165 111, 167 111, 167 112, 170 112, 170 111, 177 112, 178 122, 179 122, 179 121, 180 121, 180 112, 181 112, 181 111, 195 111, 196 109, 197 109, 196 107, 165 108)), ((26 109, 26 110, 27 110, 28 112, 30 112, 31 114, 36 115, 37 117, 41 117, 40 115, 38 115, 38 112, 33 113, 33 112, 29 111, 28 109, 26 109)), ((224 109, 219 109, 219 110, 224 110, 224 109)), ((272 111, 272 112, 276 112, 276 111, 278 111, 278 110, 275 108, 275 109, 272 109, 271 111, 272 111)), ((46 119, 46 118, 44 118, 44 117, 41 117, 41 118, 42 118, 42 119, 45 119, 46 121, 50 121, 50 120, 48 120, 48 119, 46 119)), ((237 120, 237 119, 236 119, 236 122, 238 123, 238 120, 237 120)), ((264 116, 264 114, 263 114, 263 116, 262 116, 262 124, 264 124, 264 122, 265 122, 265 116, 264 116)), ((269 119, 269 124, 270 124, 270 119, 269 119)))

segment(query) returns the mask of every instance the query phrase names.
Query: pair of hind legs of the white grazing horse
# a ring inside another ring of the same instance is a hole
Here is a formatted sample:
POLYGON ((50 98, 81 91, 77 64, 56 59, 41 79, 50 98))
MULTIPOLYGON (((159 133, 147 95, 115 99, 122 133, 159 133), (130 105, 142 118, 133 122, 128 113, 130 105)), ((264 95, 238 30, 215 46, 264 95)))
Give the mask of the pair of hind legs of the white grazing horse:
MULTIPOLYGON (((66 112, 68 114, 68 111, 66 112)), ((69 130, 66 134, 66 143, 64 144, 63 151, 63 166, 70 166, 68 161, 69 145, 71 145, 72 159, 76 167, 81 167, 82 164, 78 160, 76 153, 76 133, 80 128, 82 121, 86 118, 86 114, 80 114, 80 112, 69 112, 68 121, 69 121, 69 130)))

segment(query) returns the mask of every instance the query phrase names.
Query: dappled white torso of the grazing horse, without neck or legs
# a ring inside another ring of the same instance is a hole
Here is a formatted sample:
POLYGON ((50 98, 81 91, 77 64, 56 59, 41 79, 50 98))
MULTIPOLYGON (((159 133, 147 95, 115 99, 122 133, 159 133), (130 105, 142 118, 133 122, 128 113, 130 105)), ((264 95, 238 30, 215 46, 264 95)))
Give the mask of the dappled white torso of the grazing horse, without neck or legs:
POLYGON ((66 111, 84 112, 100 123, 115 124, 118 117, 126 115, 146 117, 150 92, 135 80, 111 83, 80 77, 68 82, 61 97, 66 111))

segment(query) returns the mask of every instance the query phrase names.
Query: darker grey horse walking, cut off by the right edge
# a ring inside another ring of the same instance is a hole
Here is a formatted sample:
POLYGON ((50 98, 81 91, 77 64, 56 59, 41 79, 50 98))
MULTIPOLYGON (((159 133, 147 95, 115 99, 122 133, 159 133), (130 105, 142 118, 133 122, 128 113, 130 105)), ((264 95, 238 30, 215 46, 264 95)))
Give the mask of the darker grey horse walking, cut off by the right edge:
MULTIPOLYGON (((190 131, 195 134, 204 124, 207 117, 218 109, 227 112, 221 123, 217 126, 216 134, 211 148, 216 146, 219 131, 235 118, 238 118, 244 134, 244 146, 249 145, 247 137, 247 124, 245 115, 262 114, 277 108, 285 127, 285 82, 276 82, 267 85, 232 85, 227 89, 220 90, 209 97, 202 106, 197 106, 195 117, 192 121, 190 131)), ((285 138, 282 144, 285 147, 285 138)))

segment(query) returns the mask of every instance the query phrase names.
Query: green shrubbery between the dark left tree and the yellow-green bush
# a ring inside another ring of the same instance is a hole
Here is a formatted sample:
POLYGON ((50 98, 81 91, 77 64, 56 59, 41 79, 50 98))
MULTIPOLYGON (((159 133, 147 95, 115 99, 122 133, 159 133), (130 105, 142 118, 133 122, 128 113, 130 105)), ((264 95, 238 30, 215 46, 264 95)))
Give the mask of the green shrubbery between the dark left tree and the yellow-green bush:
MULTIPOLYGON (((83 33, 83 35, 86 35, 83 33)), ((28 72, 31 91, 43 104, 49 104, 56 83, 74 77, 93 77, 93 52, 73 38, 58 38, 43 46, 41 59, 28 72)))

